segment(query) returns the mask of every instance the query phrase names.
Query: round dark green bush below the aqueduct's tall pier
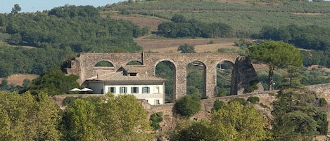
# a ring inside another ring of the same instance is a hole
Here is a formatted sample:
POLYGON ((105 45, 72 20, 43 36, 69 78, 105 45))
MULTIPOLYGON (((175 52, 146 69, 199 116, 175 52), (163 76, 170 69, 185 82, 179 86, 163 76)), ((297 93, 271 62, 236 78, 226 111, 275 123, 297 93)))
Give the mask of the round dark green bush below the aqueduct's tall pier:
POLYGON ((184 95, 174 103, 177 114, 189 118, 201 109, 201 101, 197 95, 184 95))

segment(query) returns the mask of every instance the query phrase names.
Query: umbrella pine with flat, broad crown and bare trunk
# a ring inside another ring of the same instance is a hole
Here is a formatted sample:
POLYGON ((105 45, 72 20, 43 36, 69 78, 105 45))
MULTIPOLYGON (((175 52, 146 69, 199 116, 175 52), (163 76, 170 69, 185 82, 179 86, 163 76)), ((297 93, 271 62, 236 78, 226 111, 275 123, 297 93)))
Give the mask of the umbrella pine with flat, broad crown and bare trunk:
POLYGON ((302 67, 303 55, 295 46, 281 41, 267 41, 248 48, 250 58, 269 66, 268 90, 272 90, 274 69, 288 66, 302 67))

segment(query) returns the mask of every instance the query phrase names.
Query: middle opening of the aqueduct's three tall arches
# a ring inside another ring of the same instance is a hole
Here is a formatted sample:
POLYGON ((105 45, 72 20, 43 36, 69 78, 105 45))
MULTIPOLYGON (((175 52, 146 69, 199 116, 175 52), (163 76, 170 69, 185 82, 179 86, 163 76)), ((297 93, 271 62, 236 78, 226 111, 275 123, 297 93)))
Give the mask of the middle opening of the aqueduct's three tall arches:
POLYGON ((203 62, 194 61, 186 66, 186 94, 206 97, 206 69, 203 62))

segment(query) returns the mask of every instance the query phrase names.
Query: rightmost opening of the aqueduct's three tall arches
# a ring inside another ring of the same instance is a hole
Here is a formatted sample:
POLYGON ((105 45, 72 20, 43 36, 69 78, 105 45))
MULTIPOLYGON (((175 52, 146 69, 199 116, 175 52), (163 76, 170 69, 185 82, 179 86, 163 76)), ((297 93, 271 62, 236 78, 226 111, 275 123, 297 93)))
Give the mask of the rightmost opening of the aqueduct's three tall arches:
POLYGON ((215 87, 215 96, 230 95, 231 75, 234 64, 229 61, 223 61, 217 64, 217 86, 215 87))

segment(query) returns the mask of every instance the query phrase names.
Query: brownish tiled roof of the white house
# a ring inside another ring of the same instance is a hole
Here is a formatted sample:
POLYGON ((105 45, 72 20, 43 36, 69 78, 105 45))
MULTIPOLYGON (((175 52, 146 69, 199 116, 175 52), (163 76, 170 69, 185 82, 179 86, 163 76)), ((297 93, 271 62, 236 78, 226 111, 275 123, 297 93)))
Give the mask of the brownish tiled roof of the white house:
MULTIPOLYGON (((142 67, 120 67, 117 72, 110 72, 108 74, 98 75, 86 79, 87 81, 165 81, 165 79, 148 76, 141 72, 142 67), (136 76, 130 76, 129 74, 134 73, 136 76)), ((145 71, 144 71, 145 72, 145 71)))

